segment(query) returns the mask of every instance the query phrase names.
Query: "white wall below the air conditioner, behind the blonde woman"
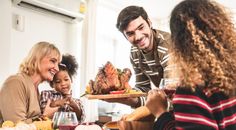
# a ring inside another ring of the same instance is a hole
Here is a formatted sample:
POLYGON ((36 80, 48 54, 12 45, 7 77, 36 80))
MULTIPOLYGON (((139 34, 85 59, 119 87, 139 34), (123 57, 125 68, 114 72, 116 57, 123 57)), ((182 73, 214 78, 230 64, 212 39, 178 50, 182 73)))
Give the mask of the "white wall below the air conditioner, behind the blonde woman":
POLYGON ((79 60, 79 50, 76 50, 80 48, 81 23, 70 24, 45 14, 15 7, 11 0, 0 1, 0 16, 1 85, 9 75, 18 71, 23 58, 33 44, 39 41, 54 43, 62 53, 71 53, 79 60), (16 15, 24 17, 23 31, 16 30, 16 15))

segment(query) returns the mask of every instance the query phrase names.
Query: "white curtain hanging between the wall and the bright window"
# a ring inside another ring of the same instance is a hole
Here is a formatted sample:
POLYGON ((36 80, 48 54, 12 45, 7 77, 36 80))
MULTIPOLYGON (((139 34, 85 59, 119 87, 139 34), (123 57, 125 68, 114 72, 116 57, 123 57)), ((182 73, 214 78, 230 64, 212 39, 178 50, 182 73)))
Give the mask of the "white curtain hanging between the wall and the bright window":
MULTIPOLYGON (((96 10, 98 0, 86 1, 86 13, 82 30, 81 49, 81 92, 85 92, 85 86, 90 79, 93 79, 95 70, 95 44, 96 44, 96 10)), ((98 105, 96 100, 81 98, 85 107, 85 122, 95 122, 98 120, 98 105)))

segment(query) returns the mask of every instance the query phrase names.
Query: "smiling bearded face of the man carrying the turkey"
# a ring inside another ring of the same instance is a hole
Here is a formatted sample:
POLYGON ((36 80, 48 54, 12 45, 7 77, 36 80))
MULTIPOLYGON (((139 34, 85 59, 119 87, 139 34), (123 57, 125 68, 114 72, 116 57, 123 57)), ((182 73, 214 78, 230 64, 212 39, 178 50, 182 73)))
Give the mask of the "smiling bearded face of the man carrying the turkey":
MULTIPOLYGON (((149 24, 151 24, 149 22, 149 24)), ((151 28, 141 16, 131 21, 123 31, 127 40, 139 49, 147 52, 152 49, 151 28)))

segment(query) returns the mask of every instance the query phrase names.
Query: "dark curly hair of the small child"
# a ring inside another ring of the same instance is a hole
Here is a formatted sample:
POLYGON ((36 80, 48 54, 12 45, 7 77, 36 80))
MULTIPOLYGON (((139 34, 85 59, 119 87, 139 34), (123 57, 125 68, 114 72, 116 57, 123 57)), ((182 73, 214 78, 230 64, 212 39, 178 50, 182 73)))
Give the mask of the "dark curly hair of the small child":
MULTIPOLYGON (((62 61, 59 64, 59 71, 67 71, 71 80, 73 80, 73 76, 77 74, 78 63, 76 58, 70 54, 64 54, 62 56, 62 61)), ((53 83, 55 82, 55 76, 53 80, 50 82, 50 86, 53 87, 53 83)))

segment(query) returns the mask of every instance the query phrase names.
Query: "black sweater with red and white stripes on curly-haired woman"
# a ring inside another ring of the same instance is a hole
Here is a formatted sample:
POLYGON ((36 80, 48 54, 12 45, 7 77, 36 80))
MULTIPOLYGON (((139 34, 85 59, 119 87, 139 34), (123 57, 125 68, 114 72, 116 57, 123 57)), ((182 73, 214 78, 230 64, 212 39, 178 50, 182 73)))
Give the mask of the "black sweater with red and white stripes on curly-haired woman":
POLYGON ((178 88, 173 105, 174 113, 162 114, 154 130, 236 130, 236 97, 222 92, 208 97, 199 88, 178 88))

